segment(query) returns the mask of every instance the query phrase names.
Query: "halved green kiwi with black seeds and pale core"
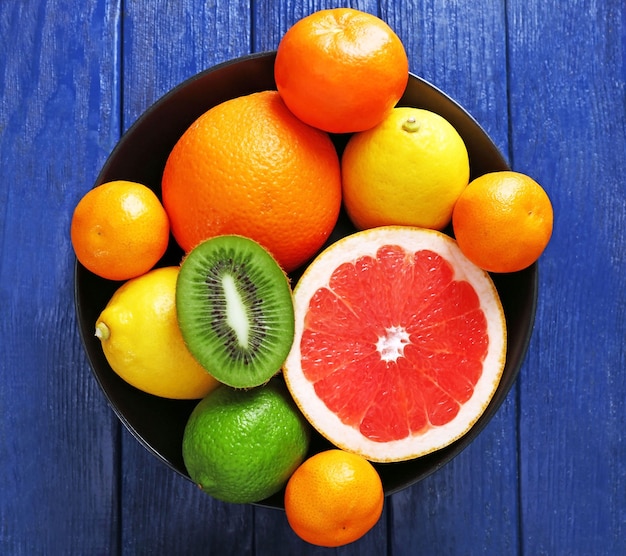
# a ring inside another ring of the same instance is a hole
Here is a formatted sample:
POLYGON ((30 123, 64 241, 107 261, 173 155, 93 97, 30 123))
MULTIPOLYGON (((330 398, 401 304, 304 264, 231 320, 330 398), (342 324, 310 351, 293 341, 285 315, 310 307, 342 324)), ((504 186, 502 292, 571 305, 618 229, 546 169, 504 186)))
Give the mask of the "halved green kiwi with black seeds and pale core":
POLYGON ((217 236, 187 254, 176 284, 176 311, 192 355, 234 388, 267 382, 291 349, 289 280, 268 251, 243 236, 217 236))

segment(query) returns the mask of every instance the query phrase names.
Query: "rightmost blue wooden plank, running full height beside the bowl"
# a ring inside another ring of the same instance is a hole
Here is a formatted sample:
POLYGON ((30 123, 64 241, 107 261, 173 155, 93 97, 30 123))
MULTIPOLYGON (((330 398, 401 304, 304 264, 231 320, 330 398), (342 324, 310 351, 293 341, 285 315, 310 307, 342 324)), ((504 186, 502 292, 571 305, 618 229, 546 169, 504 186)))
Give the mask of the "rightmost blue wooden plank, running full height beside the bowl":
POLYGON ((626 553, 626 6, 509 3, 513 159, 555 231, 521 381, 523 546, 626 553))

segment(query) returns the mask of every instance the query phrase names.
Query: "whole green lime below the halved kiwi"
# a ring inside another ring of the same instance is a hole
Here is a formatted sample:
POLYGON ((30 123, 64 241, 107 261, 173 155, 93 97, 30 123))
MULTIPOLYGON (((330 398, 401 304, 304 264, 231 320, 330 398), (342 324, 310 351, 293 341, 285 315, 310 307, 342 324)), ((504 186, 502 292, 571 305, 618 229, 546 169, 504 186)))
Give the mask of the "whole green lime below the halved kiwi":
POLYGON ((258 502, 285 486, 304 460, 309 436, 309 424, 279 378, 248 390, 220 385, 191 413, 183 459, 207 494, 258 502))

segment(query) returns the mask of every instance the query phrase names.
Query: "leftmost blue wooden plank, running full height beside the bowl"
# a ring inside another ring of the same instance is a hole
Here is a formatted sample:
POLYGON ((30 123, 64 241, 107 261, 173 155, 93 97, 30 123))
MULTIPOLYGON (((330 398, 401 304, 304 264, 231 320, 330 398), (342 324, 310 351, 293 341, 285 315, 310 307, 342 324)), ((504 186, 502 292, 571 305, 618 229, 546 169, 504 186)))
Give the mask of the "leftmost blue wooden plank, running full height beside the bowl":
POLYGON ((80 345, 69 222, 118 130, 118 10, 0 3, 2 554, 116 550, 118 425, 80 345))

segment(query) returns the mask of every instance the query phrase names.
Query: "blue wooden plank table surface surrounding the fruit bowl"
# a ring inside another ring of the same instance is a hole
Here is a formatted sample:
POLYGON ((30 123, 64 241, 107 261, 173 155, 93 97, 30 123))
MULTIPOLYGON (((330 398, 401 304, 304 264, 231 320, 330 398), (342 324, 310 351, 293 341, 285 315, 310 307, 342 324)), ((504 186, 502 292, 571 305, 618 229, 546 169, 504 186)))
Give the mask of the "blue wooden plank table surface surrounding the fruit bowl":
POLYGON ((0 0, 0 554, 626 554, 624 0, 350 2, 555 210, 513 390, 364 538, 315 548, 278 510, 202 494, 99 390, 73 301, 78 199, 173 86, 337 5, 0 0))

